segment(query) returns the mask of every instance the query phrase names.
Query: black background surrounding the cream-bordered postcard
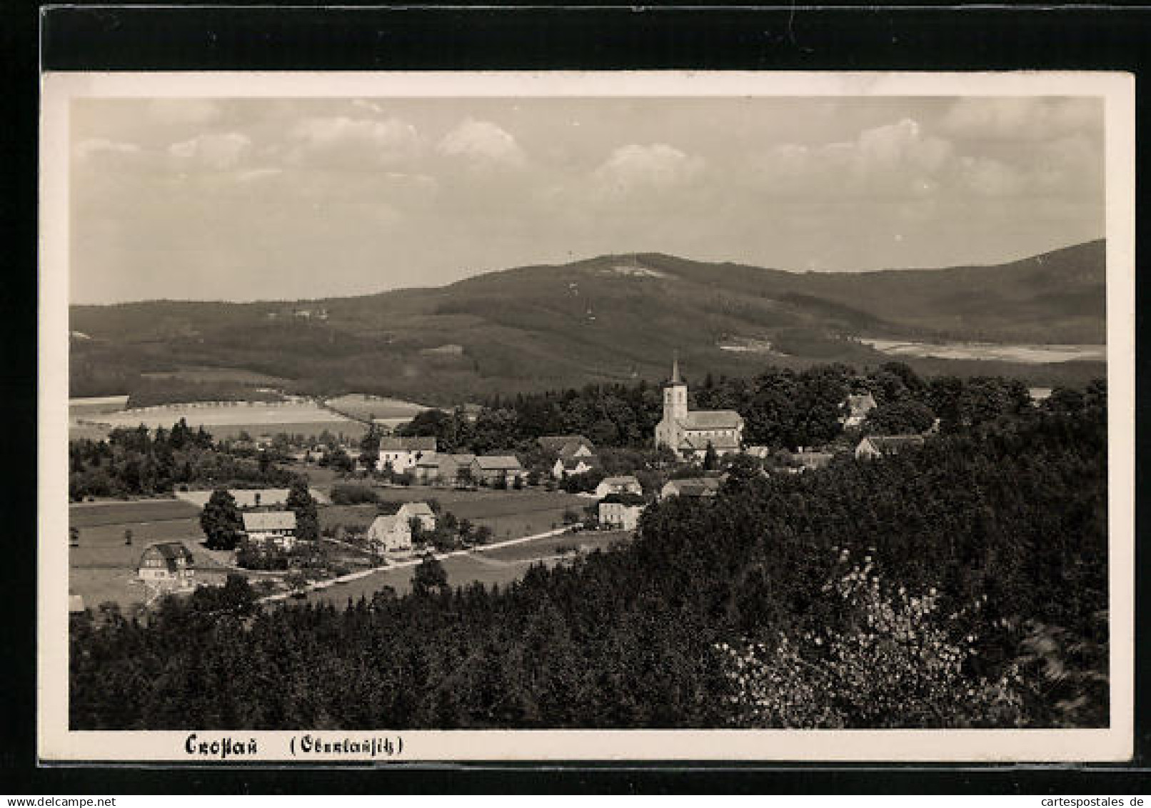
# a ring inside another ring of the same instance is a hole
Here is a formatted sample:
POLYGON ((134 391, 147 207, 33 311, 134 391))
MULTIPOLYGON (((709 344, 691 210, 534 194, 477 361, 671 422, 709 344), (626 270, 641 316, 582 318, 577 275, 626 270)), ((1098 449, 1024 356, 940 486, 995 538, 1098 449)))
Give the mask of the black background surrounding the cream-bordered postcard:
MULTIPOLYGON (((2 8, 2 7, 0 7, 2 8)), ((572 764, 366 769, 38 767, 36 761, 36 196, 38 71, 46 70, 1125 70, 1148 110, 1151 12, 1136 7, 344 8, 100 6, 0 10, 0 793, 1151 791, 1145 548, 1137 547, 1136 759, 1122 767, 572 764), (1142 770, 1139 770, 1142 768, 1142 770)), ((1151 82, 1151 79, 1149 79, 1151 82)), ((1139 139, 1137 176, 1148 170, 1139 139)), ((1139 188, 1139 200, 1146 196, 1139 188)), ((1142 213, 1143 206, 1138 207, 1142 213)), ((1151 243, 1139 216, 1137 243, 1151 243)), ((1136 310, 1148 308, 1137 276, 1136 310)), ((1145 318, 1136 323, 1146 345, 1145 318)), ((1137 352, 1136 452, 1148 449, 1137 352)), ((1136 473, 1138 524, 1146 475, 1136 473)), ((1137 534, 1139 531, 1137 531, 1137 534)), ((1137 541, 1137 544, 1139 542, 1137 541)))

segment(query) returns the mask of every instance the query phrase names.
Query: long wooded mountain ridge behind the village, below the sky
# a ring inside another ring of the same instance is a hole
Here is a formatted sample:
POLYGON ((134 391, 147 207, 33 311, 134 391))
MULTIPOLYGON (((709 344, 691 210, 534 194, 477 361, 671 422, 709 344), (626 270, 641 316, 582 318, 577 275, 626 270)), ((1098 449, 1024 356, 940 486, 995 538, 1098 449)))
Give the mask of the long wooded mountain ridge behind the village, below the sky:
POLYGON ((860 337, 1099 344, 1105 276, 1103 241, 997 266, 862 273, 639 253, 295 304, 73 306, 70 328, 91 337, 73 342, 73 390, 195 364, 304 390, 458 399, 657 380, 673 350, 689 372, 735 375, 885 358, 860 337), (737 350, 753 344, 771 350, 737 350))

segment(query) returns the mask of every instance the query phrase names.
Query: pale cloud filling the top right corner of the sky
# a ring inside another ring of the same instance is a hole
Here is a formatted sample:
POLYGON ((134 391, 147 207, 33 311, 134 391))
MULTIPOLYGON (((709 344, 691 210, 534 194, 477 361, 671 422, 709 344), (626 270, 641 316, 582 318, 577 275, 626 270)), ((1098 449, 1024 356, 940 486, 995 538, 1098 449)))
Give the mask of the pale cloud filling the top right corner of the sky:
POLYGON ((1092 98, 962 98, 942 128, 978 140, 1043 140, 1076 132, 1100 134, 1103 105, 1092 98))

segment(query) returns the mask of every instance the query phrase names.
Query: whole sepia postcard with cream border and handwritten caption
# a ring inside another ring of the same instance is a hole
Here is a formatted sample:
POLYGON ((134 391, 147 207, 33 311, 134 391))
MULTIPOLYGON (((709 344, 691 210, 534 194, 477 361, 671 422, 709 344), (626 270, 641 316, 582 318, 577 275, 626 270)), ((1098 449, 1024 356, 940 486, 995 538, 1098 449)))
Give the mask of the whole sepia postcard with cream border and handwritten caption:
POLYGON ((41 759, 1125 760, 1133 86, 46 76, 41 759))

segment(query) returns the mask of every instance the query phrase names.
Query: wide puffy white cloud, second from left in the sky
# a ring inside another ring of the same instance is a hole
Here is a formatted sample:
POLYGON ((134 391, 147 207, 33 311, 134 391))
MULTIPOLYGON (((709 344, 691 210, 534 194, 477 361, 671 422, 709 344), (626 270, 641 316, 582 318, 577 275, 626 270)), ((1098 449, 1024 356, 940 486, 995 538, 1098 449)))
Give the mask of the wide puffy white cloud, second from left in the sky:
POLYGON ((306 117, 292 127, 289 140, 291 162, 353 170, 412 160, 420 147, 416 127, 396 117, 306 117))

